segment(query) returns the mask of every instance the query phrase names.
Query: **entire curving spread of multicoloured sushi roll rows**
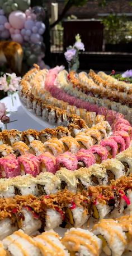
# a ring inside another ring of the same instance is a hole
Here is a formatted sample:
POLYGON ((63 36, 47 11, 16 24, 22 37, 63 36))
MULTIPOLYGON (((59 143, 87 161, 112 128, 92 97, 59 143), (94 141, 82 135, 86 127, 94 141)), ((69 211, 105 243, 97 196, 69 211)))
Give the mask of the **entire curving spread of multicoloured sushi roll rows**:
POLYGON ((23 76, 21 102, 56 127, 0 132, 0 256, 132 255, 131 89, 63 66, 23 76))

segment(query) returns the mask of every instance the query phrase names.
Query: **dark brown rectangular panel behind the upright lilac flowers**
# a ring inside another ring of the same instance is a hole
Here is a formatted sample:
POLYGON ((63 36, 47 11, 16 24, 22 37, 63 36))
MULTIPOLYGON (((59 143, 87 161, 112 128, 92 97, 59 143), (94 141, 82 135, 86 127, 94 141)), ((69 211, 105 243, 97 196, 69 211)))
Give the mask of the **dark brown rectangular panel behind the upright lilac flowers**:
POLYGON ((103 24, 98 20, 64 20, 63 46, 66 49, 75 42, 75 36, 81 35, 86 52, 102 51, 103 24))

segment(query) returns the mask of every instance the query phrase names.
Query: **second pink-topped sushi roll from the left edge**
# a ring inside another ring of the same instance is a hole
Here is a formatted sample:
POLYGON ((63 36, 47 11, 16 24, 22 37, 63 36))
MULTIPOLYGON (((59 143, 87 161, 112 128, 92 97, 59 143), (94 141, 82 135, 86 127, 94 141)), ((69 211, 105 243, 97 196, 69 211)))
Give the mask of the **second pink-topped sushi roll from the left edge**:
POLYGON ((40 173, 39 158, 33 154, 26 154, 17 158, 21 167, 21 175, 31 174, 36 177, 40 173))

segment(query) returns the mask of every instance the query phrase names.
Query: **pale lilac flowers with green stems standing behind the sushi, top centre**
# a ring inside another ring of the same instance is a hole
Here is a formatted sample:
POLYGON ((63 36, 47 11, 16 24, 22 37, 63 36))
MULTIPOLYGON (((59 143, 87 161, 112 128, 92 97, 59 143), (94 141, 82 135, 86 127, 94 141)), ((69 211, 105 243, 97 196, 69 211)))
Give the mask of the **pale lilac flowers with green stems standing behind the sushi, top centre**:
POLYGON ((76 42, 73 46, 69 46, 64 53, 65 59, 68 62, 69 71, 77 71, 79 68, 79 51, 85 51, 84 44, 82 43, 81 36, 79 34, 75 37, 76 42))

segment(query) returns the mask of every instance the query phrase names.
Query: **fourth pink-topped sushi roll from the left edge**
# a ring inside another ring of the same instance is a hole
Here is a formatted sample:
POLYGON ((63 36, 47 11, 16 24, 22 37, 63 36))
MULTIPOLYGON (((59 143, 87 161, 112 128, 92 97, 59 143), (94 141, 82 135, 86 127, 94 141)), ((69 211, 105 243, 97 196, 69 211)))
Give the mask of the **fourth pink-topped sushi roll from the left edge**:
POLYGON ((65 167, 68 170, 74 171, 77 170, 77 157, 74 156, 71 152, 65 152, 56 157, 56 167, 60 170, 61 167, 65 167))

